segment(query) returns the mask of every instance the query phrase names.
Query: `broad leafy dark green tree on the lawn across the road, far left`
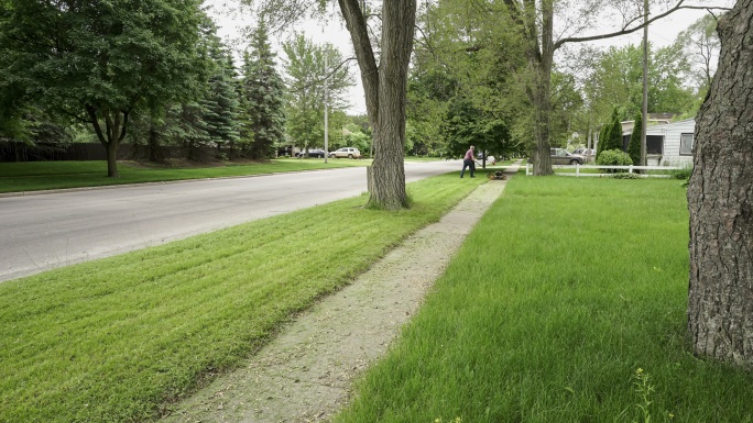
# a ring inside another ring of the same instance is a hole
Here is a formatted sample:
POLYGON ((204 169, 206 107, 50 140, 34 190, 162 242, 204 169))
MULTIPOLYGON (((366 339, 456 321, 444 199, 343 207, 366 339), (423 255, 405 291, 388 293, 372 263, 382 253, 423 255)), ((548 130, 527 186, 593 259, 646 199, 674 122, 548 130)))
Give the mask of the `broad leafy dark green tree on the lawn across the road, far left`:
POLYGON ((117 177, 132 113, 187 97, 204 62, 200 0, 6 0, 0 80, 90 124, 117 177))

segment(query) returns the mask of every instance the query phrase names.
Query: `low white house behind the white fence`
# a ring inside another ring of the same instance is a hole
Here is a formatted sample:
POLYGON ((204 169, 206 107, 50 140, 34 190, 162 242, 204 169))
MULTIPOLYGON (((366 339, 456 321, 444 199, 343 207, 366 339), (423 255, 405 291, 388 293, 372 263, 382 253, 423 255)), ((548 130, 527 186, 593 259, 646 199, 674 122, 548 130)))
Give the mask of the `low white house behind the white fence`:
MULTIPOLYGON (((695 131, 696 120, 694 119, 648 126, 646 129, 647 165, 691 165, 695 131)), ((632 127, 622 132, 624 151, 628 151, 632 133, 632 127)))

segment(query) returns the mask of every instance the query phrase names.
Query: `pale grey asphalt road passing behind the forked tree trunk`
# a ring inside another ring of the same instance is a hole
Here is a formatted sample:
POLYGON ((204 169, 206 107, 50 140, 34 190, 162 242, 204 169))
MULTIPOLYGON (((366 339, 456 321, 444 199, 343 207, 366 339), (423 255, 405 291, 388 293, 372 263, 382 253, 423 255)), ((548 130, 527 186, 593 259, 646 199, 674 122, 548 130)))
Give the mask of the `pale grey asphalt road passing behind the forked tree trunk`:
MULTIPOLYGON (((407 182, 460 170, 406 163, 407 182)), ((0 281, 358 196, 365 168, 0 198, 0 281)))

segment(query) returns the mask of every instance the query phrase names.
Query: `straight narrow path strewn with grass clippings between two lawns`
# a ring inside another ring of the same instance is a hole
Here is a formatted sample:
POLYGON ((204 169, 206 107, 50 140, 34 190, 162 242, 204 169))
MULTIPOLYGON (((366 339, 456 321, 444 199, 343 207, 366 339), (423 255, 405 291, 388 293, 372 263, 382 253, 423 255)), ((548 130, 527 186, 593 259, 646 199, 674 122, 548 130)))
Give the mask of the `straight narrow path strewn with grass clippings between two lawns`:
POLYGON ((348 401, 353 377, 386 350, 418 309, 505 185, 480 186, 439 222, 284 327, 244 367, 219 377, 163 421, 327 421, 348 401))

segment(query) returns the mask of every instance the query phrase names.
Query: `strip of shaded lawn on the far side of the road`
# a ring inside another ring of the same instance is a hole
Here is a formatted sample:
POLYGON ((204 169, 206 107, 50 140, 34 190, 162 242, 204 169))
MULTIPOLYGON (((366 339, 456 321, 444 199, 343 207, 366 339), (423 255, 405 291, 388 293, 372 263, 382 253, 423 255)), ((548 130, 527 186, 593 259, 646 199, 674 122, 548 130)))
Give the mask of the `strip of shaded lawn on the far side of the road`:
POLYGON ((215 167, 165 168, 119 163, 119 178, 107 177, 107 162, 0 163, 0 192, 98 187, 201 178, 252 176, 283 171, 368 166, 371 160, 281 158, 268 163, 215 167))

